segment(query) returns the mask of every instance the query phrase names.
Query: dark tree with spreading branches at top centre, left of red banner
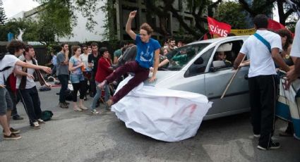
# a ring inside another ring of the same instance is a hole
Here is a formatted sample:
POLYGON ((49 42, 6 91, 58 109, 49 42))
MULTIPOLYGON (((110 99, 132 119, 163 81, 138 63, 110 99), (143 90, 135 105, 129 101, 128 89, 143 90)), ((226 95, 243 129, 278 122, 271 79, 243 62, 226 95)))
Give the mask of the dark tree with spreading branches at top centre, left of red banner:
MULTIPOLYGON (((164 37, 169 36, 167 31, 167 15, 172 13, 172 15, 179 21, 179 25, 182 29, 186 31, 186 34, 192 35, 194 39, 199 39, 205 32, 206 28, 206 15, 212 16, 212 8, 215 8, 222 0, 217 0, 212 2, 211 0, 186 0, 181 1, 179 4, 179 9, 174 8, 174 0, 162 0, 160 3, 158 1, 145 1, 145 6, 147 8, 147 19, 151 18, 153 14, 157 15, 160 19, 160 27, 156 29, 164 37), (184 4, 187 4, 188 10, 191 11, 191 15, 195 20, 195 24, 188 24, 184 20, 184 16, 181 14, 184 12, 184 4), (150 15, 150 16, 149 16, 150 15)), ((148 22, 152 22, 148 20, 148 22)), ((152 25, 155 26, 155 25, 152 25)))

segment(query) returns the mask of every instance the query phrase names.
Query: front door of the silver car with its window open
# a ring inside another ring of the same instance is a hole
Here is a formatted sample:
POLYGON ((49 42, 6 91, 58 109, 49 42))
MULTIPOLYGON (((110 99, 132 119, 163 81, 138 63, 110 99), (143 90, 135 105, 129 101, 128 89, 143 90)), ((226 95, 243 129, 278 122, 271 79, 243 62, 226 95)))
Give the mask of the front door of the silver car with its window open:
MULTIPOLYGON (((222 44, 224 43, 233 44, 232 51, 227 51, 227 56, 231 55, 229 57, 233 63, 239 53, 239 49, 241 49, 243 40, 222 42, 222 44)), ((218 46, 215 46, 214 53, 217 48, 218 46)), ((215 54, 211 56, 210 63, 208 63, 209 66, 212 66, 214 56, 215 54)), ((208 96, 208 99, 213 102, 212 108, 210 108, 207 114, 207 116, 210 116, 209 118, 228 116, 249 109, 248 81, 245 79, 248 74, 248 66, 239 70, 239 73, 236 74, 236 77, 227 90, 226 95, 223 99, 220 99, 234 72, 235 70, 232 70, 232 67, 227 67, 216 71, 210 70, 208 73, 205 73, 205 94, 208 96)))

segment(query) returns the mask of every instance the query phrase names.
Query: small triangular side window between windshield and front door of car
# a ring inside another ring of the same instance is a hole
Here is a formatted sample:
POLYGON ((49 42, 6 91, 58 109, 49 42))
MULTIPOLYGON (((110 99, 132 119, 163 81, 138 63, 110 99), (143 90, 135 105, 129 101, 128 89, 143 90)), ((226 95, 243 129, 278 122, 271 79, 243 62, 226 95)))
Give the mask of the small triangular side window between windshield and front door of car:
POLYGON ((191 77, 205 73, 205 69, 208 66, 208 61, 210 60, 210 56, 212 56, 212 51, 214 51, 214 49, 215 47, 212 47, 199 58, 197 58, 197 60, 188 68, 184 74, 184 77, 191 77))

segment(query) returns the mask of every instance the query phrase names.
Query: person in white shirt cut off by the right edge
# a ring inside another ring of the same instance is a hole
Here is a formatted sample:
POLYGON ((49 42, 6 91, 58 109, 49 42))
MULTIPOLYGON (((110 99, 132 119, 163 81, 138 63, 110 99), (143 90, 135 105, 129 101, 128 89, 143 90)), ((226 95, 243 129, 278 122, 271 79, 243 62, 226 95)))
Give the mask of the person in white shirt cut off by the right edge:
POLYGON ((293 58, 295 67, 287 73, 287 80, 292 82, 300 75, 300 20, 296 23, 295 37, 290 55, 293 58))

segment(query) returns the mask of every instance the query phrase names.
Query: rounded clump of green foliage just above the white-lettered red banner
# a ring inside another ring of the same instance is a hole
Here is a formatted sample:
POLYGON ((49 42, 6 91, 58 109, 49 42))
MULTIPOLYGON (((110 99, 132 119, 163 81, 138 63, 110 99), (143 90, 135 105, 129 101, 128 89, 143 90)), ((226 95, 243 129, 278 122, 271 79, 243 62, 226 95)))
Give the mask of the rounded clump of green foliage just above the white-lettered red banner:
POLYGON ((232 29, 246 29, 246 13, 241 5, 234 1, 221 3, 217 7, 215 18, 220 21, 232 25, 232 29))

